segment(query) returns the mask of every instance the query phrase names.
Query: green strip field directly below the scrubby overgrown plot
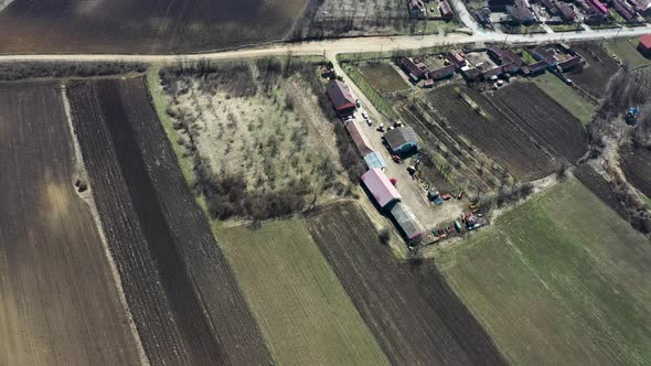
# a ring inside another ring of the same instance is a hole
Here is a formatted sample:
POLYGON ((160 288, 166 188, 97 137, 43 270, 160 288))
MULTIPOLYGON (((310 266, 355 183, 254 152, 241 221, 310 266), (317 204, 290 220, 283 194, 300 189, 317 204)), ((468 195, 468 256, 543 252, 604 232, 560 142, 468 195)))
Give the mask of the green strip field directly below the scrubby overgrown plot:
POLYGON ((388 364, 303 220, 217 235, 279 364, 388 364))

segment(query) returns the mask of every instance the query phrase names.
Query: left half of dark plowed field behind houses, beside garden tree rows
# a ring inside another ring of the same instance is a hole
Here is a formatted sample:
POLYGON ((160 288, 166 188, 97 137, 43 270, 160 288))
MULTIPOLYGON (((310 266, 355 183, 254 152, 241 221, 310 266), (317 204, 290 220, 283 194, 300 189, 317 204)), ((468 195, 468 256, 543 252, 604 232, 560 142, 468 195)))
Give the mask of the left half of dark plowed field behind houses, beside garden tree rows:
MULTIPOLYGON (((477 103, 490 120, 474 111, 453 90, 455 85, 444 86, 428 94, 429 99, 451 136, 461 134, 477 148, 495 160, 506 171, 521 180, 543 177, 554 170, 551 155, 533 144, 517 123, 506 117, 487 97, 472 89, 461 87, 477 103)), ((436 116, 435 116, 436 118, 436 116)))

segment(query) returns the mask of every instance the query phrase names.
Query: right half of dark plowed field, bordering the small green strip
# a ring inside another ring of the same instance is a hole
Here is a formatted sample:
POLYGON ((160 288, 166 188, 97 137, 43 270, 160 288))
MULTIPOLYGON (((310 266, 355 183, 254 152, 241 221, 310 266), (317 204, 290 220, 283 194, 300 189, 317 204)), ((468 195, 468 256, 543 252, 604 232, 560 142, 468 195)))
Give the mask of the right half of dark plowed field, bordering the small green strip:
POLYGON ((588 150, 580 121, 531 83, 517 83, 495 93, 492 100, 553 155, 574 163, 588 150), (511 117, 511 116, 510 116, 511 117))

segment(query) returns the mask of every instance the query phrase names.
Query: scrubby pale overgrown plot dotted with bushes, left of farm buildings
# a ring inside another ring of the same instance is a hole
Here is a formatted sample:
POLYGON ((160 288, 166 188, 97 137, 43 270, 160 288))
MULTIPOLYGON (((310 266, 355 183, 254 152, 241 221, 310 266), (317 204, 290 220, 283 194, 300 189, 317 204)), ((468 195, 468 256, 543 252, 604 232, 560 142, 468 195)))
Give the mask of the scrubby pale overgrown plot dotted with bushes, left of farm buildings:
POLYGON ((214 218, 286 216, 352 189, 342 173, 356 151, 338 147, 340 126, 319 107, 317 65, 282 67, 271 58, 160 73, 174 142, 214 218))

